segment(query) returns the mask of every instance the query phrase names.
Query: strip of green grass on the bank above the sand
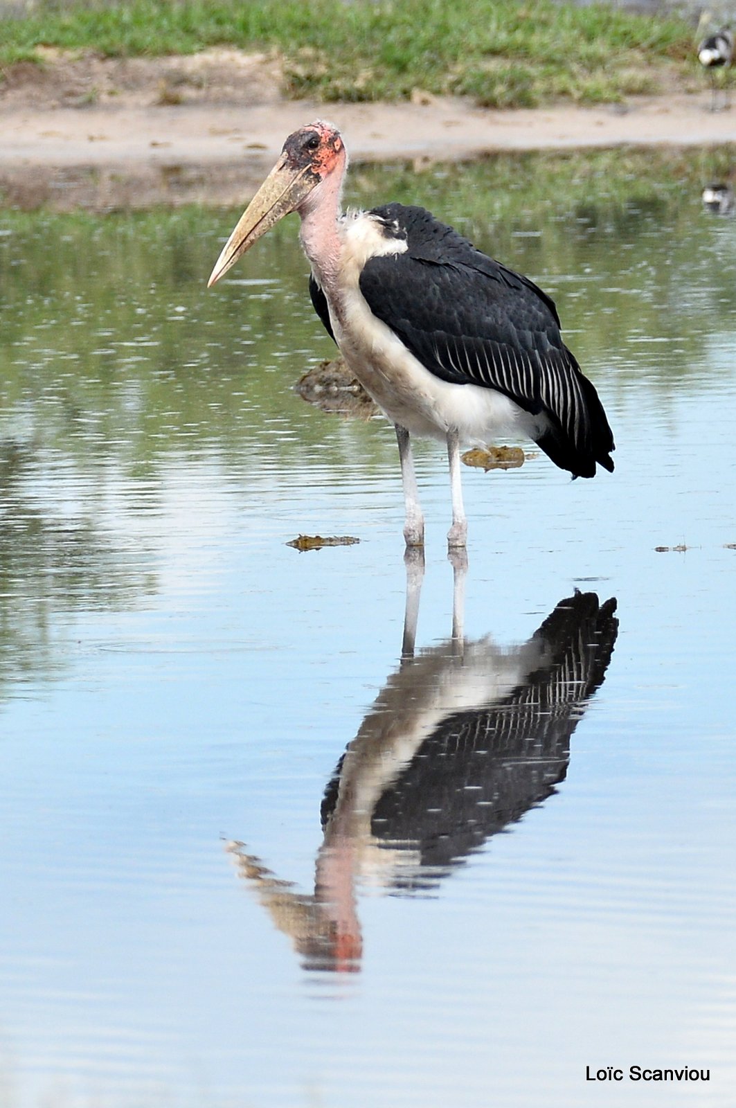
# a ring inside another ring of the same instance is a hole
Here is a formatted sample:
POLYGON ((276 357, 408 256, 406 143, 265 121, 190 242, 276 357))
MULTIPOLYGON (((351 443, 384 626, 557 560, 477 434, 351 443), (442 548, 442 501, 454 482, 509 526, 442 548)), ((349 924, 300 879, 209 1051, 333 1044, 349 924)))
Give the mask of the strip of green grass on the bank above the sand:
POLYGON ((592 103, 694 75, 684 20, 548 0, 72 2, 42 4, 0 30, 0 65, 39 45, 110 57, 270 51, 288 95, 325 101, 401 100, 420 89, 487 106, 592 103))

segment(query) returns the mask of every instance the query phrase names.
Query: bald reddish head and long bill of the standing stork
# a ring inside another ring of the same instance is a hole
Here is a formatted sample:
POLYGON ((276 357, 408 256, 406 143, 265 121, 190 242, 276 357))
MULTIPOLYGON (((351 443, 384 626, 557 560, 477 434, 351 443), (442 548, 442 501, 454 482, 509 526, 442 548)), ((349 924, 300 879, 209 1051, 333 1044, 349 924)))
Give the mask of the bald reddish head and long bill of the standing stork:
POLYGON ((207 288, 234 266, 242 254, 289 212, 296 212, 331 172, 343 141, 329 124, 311 123, 295 131, 280 156, 225 243, 207 288))

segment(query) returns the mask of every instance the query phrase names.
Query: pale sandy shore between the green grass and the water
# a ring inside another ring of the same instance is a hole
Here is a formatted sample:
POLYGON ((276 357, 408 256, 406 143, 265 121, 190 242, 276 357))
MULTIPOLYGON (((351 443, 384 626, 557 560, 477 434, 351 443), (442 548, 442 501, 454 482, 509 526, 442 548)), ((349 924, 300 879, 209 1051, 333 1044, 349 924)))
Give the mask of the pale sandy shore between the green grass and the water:
POLYGON ((42 76, 34 66, 17 70, 0 92, 7 201, 22 207, 238 204, 285 136, 319 116, 340 126, 356 161, 736 142, 736 107, 708 111, 706 90, 623 106, 519 111, 421 94, 410 104, 320 105, 283 100, 265 59, 233 51, 223 64, 223 53, 85 60, 51 64, 42 76))

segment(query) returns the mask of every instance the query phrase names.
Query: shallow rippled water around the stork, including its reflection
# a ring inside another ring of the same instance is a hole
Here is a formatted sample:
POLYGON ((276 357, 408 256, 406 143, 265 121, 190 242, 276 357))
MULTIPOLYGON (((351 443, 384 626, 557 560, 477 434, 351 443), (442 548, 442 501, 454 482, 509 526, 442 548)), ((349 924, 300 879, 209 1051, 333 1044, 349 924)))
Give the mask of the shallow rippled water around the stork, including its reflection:
POLYGON ((3 1106, 733 1104, 729 157, 356 167, 555 297, 617 447, 464 471, 462 653, 419 448, 403 665, 296 224, 206 293, 237 213, 2 214, 3 1106), (585 1080, 633 1065, 711 1079, 585 1080))

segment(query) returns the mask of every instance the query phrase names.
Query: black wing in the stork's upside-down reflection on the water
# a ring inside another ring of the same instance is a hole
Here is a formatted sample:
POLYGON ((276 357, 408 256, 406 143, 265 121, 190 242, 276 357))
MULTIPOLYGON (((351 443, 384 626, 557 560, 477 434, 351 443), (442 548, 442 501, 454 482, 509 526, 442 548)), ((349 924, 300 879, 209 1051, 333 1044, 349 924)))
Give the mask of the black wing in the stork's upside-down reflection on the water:
MULTIPOLYGON (((599 605, 594 593, 562 601, 531 640, 540 660, 523 684, 447 715, 388 784, 371 813, 376 840, 446 870, 553 793, 566 773, 570 737, 611 659, 615 607, 615 599, 599 605)), ((324 818, 330 793, 336 782, 324 818)), ((423 886, 427 879, 411 868, 395 884, 423 886)))

